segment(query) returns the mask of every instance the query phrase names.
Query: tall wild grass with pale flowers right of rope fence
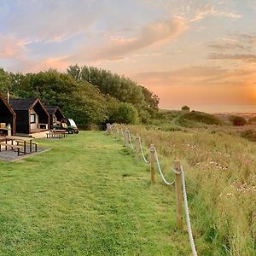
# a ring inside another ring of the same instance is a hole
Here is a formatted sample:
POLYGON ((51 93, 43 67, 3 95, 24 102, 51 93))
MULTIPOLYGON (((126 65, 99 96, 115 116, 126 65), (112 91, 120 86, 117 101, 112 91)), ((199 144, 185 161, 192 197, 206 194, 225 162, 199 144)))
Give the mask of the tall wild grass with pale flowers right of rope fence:
POLYGON ((229 127, 217 131, 156 131, 130 126, 145 148, 154 143, 166 177, 179 159, 185 168, 195 241, 211 255, 256 255, 256 145, 229 127))

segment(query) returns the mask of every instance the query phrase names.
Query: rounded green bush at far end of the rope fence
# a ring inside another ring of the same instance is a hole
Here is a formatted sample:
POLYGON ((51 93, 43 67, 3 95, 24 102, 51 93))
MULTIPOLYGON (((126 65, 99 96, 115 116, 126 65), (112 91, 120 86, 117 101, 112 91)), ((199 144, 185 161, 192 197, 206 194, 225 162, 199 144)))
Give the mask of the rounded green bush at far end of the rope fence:
POLYGON ((137 109, 129 103, 119 103, 118 108, 113 111, 111 120, 121 124, 136 124, 138 122, 137 109))

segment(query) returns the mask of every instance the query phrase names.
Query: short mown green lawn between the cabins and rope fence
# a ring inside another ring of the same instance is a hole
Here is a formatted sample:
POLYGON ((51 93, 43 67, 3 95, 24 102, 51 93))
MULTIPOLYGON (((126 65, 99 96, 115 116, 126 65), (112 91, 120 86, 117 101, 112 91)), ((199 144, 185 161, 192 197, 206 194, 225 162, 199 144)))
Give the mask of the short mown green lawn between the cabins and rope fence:
POLYGON ((189 255, 173 189, 119 140, 82 131, 0 162, 0 255, 189 255))

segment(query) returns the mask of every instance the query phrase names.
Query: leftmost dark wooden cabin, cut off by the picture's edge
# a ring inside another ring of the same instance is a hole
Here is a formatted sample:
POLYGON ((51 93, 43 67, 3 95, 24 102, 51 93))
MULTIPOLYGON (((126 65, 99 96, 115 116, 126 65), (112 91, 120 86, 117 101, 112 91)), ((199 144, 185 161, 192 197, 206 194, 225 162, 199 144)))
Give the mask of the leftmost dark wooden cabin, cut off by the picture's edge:
POLYGON ((0 134, 9 135, 9 128, 11 135, 16 132, 16 114, 0 93, 0 134))

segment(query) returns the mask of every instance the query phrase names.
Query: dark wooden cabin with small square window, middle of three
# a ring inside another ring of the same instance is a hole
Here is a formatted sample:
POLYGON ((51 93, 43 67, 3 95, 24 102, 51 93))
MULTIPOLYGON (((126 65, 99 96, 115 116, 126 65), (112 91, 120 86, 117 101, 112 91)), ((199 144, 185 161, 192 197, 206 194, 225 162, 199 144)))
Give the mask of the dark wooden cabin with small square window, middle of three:
POLYGON ((10 99, 16 113, 16 132, 31 134, 49 130, 49 114, 38 98, 10 99))

